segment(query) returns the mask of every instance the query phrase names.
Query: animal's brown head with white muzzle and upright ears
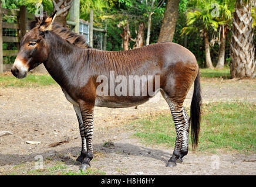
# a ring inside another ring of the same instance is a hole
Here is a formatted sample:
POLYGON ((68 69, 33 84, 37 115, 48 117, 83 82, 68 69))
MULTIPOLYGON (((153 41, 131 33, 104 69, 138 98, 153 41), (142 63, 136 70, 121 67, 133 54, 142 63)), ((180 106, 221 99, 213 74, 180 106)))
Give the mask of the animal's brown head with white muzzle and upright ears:
POLYGON ((48 59, 49 50, 45 40, 45 33, 52 30, 52 24, 56 18, 56 12, 47 17, 36 18, 31 22, 29 32, 21 40, 21 48, 12 65, 12 74, 16 78, 24 78, 28 71, 48 59))

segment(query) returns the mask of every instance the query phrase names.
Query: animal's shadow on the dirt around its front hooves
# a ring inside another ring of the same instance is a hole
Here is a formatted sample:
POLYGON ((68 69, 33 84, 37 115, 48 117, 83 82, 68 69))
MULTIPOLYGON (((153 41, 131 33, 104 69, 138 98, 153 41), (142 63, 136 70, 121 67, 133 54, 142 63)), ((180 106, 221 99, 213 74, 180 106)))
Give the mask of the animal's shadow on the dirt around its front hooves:
MULTIPOLYGON (((103 147, 103 144, 94 145, 95 153, 104 153, 104 154, 123 154, 123 156, 130 155, 140 155, 143 157, 154 158, 156 160, 161 160, 167 162, 165 158, 170 157, 170 153, 166 151, 161 151, 153 148, 147 148, 143 146, 136 146, 129 143, 115 143, 113 147, 103 147)), ((36 161, 36 155, 42 155, 43 160, 46 159, 52 161, 63 161, 67 165, 75 163, 76 157, 80 154, 80 147, 70 147, 63 149, 62 151, 55 151, 54 149, 49 149, 44 152, 33 153, 29 155, 22 154, 0 154, 0 166, 4 165, 19 165, 26 162, 36 161), (69 156, 71 155, 71 157, 69 156), (11 161, 10 161, 11 160, 11 161)))

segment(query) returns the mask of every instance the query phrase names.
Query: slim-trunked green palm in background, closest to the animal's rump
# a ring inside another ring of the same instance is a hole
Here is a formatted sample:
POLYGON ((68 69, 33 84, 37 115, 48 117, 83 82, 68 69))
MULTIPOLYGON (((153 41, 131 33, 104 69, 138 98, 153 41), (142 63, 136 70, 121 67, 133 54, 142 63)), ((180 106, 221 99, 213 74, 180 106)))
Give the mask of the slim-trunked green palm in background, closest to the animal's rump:
POLYGON ((188 34, 190 32, 201 32, 201 36, 204 37, 204 47, 206 50, 206 66, 213 69, 213 63, 211 62, 210 53, 210 41, 208 36, 208 30, 213 28, 217 30, 218 23, 214 20, 211 12, 213 7, 211 6, 214 1, 196 0, 193 1, 196 9, 190 9, 187 12, 187 27, 183 28, 181 34, 188 34))

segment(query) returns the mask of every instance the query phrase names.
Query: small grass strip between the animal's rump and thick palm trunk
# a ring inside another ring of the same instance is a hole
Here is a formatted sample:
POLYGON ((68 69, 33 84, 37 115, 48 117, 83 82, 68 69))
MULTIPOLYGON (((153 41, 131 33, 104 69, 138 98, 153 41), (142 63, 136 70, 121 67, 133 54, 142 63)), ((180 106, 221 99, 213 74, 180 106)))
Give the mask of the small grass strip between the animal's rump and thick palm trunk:
POLYGON ((201 77, 206 78, 230 78, 230 68, 223 68, 221 70, 214 69, 200 69, 201 77))

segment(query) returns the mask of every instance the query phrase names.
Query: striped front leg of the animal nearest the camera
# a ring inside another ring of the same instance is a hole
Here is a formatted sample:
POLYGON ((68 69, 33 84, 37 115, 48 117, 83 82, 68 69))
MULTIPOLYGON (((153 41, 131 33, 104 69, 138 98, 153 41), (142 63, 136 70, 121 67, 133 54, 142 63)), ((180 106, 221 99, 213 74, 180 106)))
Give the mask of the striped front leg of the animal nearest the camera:
POLYGON ((81 108, 81 115, 83 119, 83 126, 85 128, 86 153, 81 153, 85 158, 82 161, 80 169, 86 169, 90 167, 90 161, 93 158, 93 108, 81 108))

